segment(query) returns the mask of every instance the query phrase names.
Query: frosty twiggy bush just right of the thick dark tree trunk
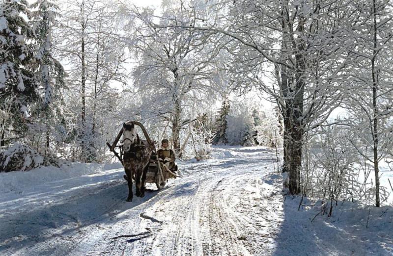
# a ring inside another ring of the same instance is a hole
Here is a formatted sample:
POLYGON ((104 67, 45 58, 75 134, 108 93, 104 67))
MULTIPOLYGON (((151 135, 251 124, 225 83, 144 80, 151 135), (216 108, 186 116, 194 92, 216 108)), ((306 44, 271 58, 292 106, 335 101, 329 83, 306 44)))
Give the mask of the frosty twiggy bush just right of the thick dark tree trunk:
MULTIPOLYGON (((303 152, 304 193, 330 202, 329 216, 332 205, 339 201, 371 205, 375 201, 372 165, 349 142, 354 138, 352 130, 332 125, 320 127, 312 135, 303 152)), ((381 203, 389 198, 388 189, 383 185, 380 197, 381 203)))

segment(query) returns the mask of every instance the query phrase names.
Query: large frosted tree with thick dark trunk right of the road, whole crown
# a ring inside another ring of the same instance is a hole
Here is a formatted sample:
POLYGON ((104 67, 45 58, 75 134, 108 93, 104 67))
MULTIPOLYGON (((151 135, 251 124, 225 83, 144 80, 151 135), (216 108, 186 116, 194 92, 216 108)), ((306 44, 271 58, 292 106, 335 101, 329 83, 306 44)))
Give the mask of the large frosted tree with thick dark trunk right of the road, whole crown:
MULTIPOLYGON (((271 95, 284 119, 284 165, 289 191, 301 191, 302 146, 307 130, 326 120, 345 89, 347 36, 341 20, 354 19, 340 1, 217 1, 186 27, 226 36, 232 83, 256 85, 271 95), (232 44, 231 44, 232 43, 232 44), (268 68, 270 67, 270 69, 268 68), (274 67, 276 81, 262 77, 274 67)), ((173 17, 176 20, 175 17, 173 17)))

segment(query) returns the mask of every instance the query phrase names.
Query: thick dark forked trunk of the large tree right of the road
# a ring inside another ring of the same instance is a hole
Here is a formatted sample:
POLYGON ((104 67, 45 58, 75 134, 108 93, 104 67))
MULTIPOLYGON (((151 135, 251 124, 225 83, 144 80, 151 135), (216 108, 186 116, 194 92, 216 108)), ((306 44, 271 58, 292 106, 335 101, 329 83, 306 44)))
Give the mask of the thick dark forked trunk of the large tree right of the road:
MULTIPOLYGON (((289 49, 295 47, 295 69, 291 70, 285 65, 281 65, 281 93, 285 102, 284 106, 284 156, 283 156, 283 169, 282 171, 288 172, 289 177, 289 192, 291 194, 299 194, 301 192, 300 171, 302 167, 302 147, 304 137, 303 126, 303 104, 304 104, 304 90, 305 90, 305 77, 306 70, 305 64, 305 51, 306 42, 302 38, 302 33, 305 30, 305 18, 302 14, 299 15, 299 23, 297 25, 296 39, 293 36, 292 21, 288 16, 288 2, 282 6, 282 42, 281 48, 283 52, 288 52, 289 49), (290 42, 290 45, 287 44, 290 42), (295 81, 290 78, 292 74, 295 75, 295 81), (290 77, 288 76, 290 75, 290 77), (294 83, 294 84, 293 84, 294 83)), ((290 52, 290 51, 289 51, 290 52)), ((289 58, 289 57, 288 57, 289 58)), ((289 63, 286 58, 283 59, 289 63)))

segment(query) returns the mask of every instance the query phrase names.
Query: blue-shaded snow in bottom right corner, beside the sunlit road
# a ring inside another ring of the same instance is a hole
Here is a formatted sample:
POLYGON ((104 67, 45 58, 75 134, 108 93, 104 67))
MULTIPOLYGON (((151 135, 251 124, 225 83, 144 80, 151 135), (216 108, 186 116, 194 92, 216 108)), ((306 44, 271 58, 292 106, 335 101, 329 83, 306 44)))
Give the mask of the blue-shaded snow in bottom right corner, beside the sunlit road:
MULTIPOLYGON (((393 253, 392 207, 370 207, 368 215, 368 208, 345 202, 335 206, 333 216, 328 218, 327 214, 315 217, 318 206, 301 207, 298 211, 300 200, 286 197, 274 256, 393 253)), ((303 201, 303 205, 310 203, 303 201)))

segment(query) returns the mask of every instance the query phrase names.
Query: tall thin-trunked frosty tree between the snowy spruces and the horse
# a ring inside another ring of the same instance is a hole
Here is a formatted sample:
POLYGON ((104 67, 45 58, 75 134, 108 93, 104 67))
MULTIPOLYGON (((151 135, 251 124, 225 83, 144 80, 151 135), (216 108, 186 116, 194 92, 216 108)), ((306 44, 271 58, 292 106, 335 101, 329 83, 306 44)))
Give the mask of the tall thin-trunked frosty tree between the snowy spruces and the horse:
POLYGON ((64 98, 71 107, 69 137, 80 152, 77 158, 84 161, 102 159, 108 134, 102 127, 112 122, 118 97, 111 83, 125 83, 127 77, 116 6, 116 2, 67 1, 61 5, 61 26, 56 29, 56 52, 68 72, 64 98))

